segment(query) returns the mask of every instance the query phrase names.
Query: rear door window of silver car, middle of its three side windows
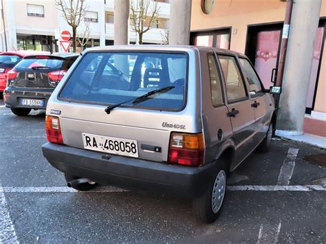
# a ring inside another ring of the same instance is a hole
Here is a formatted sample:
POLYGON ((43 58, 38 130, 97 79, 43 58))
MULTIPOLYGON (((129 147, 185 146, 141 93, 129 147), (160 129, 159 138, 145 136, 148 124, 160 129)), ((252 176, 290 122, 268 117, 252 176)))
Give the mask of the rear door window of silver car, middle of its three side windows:
POLYGON ((235 57, 219 55, 219 62, 221 63, 224 81, 226 82, 228 102, 235 102, 247 98, 246 87, 235 57))

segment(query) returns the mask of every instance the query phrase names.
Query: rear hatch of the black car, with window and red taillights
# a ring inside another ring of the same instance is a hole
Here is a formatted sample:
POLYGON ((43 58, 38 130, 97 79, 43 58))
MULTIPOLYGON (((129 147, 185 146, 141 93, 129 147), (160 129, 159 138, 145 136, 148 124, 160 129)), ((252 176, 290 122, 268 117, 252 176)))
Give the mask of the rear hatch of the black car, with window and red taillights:
POLYGON ((65 58, 45 55, 28 56, 9 72, 9 85, 19 88, 53 89, 66 72, 65 58))

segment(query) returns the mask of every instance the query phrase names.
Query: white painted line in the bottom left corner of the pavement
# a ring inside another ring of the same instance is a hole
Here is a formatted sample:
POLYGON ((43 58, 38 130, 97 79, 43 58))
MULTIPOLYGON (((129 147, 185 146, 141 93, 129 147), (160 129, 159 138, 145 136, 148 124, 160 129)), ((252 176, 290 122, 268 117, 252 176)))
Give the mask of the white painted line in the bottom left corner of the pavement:
POLYGON ((0 186, 0 243, 18 243, 16 231, 10 218, 6 197, 0 186))

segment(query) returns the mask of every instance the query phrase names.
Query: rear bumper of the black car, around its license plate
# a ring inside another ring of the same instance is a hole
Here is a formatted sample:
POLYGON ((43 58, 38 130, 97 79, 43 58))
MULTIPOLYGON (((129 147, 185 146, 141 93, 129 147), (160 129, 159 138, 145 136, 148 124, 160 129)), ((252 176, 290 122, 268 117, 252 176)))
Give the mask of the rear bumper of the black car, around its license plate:
POLYGON ((49 100, 54 89, 28 89, 7 87, 3 91, 6 96, 5 104, 10 109, 25 108, 25 109, 46 109, 47 101, 49 100), (43 100, 43 106, 26 106, 21 104, 21 99, 29 98, 43 100))

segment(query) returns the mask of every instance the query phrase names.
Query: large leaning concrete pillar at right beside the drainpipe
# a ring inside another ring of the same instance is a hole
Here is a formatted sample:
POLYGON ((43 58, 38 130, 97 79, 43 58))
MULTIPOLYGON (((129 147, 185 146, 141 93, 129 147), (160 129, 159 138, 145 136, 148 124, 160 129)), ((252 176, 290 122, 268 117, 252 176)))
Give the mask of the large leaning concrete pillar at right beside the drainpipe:
POLYGON ((321 0, 293 3, 276 135, 302 135, 321 0))

